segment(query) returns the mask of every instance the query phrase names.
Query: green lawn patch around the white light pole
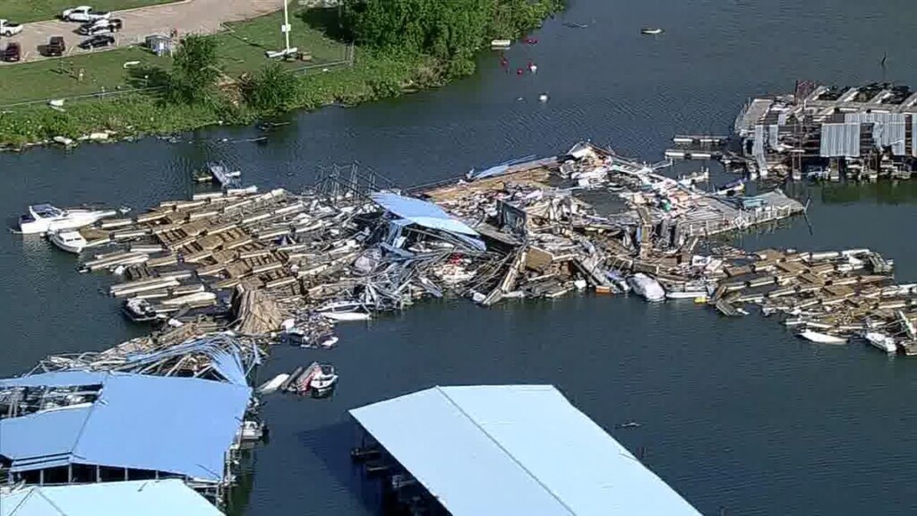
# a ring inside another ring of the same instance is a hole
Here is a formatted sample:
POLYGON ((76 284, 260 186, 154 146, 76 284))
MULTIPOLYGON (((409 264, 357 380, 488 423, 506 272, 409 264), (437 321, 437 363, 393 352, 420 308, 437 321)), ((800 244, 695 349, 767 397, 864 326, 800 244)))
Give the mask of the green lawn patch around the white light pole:
MULTIPOLYGON (((2 0, 0 0, 2 1, 2 0)), ((258 70, 269 62, 265 50, 282 50, 283 13, 227 24, 229 30, 216 36, 220 56, 226 73, 238 75, 258 70)), ((287 62, 290 68, 301 68, 308 64, 341 61, 345 57, 345 46, 310 28, 298 14, 290 13, 290 46, 312 55, 309 62, 287 62)))

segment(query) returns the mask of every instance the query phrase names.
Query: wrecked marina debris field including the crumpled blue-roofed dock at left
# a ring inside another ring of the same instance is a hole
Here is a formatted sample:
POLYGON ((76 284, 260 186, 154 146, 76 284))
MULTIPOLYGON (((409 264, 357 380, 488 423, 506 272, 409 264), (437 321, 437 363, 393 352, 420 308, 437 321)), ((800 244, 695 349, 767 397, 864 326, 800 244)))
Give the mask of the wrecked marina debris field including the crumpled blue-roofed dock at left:
MULTIPOLYGON (((669 164, 580 142, 403 189, 336 166, 292 192, 241 187, 220 163, 211 174, 222 187, 135 214, 106 210, 68 228, 75 210, 31 210, 31 221, 51 214, 49 237, 78 254, 80 272, 115 278, 107 294, 151 333, 0 380, 0 485, 171 478, 223 508, 266 432, 260 397, 320 398, 337 384, 332 365, 313 362, 253 388, 271 346, 347 345, 337 324, 426 298, 490 307, 630 294, 729 317, 759 311, 818 344, 917 354, 917 285, 896 284, 891 260, 730 246, 717 236, 778 226, 807 206, 779 188, 706 191, 709 173, 667 175, 669 164), (112 421, 130 428, 116 435, 112 421)), ((378 421, 360 423, 371 432, 378 421)))

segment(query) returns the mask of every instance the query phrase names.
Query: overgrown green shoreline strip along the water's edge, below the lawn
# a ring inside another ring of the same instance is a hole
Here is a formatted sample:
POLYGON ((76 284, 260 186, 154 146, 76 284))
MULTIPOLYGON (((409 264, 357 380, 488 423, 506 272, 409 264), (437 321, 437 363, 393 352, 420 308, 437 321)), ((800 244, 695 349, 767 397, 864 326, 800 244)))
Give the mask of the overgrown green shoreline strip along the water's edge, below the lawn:
MULTIPOLYGON (((551 6, 547 17, 535 25, 519 28, 514 40, 540 28, 562 8, 554 0, 545 5, 551 6)), ((484 43, 477 50, 479 55, 488 51, 484 43)), ((214 99, 207 103, 178 104, 155 94, 127 93, 115 99, 100 97, 57 109, 37 104, 0 113, 0 151, 26 151, 53 144, 55 139, 77 143, 98 133, 108 135, 100 140, 115 142, 171 136, 212 126, 245 126, 297 111, 311 112, 335 105, 355 107, 429 91, 478 72, 476 63, 470 70, 454 72, 449 62, 422 52, 359 46, 349 49, 349 64, 328 63, 326 68, 316 64, 315 72, 294 75, 298 85, 296 95, 279 109, 249 107, 239 98, 238 78, 219 87, 214 99)))

